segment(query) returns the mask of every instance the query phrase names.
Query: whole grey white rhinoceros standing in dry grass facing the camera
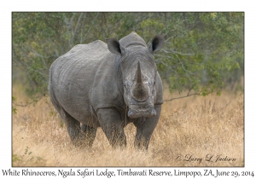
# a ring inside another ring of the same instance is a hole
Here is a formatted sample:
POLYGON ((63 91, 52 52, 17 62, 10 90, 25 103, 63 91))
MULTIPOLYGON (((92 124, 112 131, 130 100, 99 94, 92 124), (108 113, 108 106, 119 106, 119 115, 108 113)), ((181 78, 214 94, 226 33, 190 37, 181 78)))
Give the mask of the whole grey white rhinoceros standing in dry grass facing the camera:
POLYGON ((135 147, 148 149, 160 118, 162 83, 154 52, 163 36, 125 38, 79 44, 49 68, 49 95, 74 145, 91 147, 98 127, 113 147, 126 145, 124 127, 137 127, 135 147), (82 124, 80 126, 80 123, 82 124))

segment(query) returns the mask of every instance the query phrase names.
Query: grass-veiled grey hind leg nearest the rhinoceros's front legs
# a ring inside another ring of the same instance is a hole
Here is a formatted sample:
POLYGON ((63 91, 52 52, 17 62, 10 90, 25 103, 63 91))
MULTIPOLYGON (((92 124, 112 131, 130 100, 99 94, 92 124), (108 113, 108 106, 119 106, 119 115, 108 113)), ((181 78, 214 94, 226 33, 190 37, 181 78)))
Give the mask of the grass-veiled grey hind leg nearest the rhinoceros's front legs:
POLYGON ((86 146, 91 147, 96 137, 97 128, 82 124, 81 130, 84 135, 84 141, 86 146))

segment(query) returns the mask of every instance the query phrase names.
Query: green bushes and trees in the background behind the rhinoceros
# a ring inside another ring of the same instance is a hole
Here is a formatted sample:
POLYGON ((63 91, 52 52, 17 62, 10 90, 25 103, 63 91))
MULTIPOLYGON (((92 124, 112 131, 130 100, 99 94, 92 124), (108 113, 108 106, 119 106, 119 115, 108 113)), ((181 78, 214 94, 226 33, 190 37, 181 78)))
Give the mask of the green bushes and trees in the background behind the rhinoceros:
MULTIPOLYGON (((243 75, 243 13, 18 13, 13 20, 13 66, 26 72, 32 99, 47 94, 49 66, 74 45, 165 34, 155 55, 162 79, 188 95, 220 94, 243 75)), ((13 71, 15 72, 15 71, 13 71)))

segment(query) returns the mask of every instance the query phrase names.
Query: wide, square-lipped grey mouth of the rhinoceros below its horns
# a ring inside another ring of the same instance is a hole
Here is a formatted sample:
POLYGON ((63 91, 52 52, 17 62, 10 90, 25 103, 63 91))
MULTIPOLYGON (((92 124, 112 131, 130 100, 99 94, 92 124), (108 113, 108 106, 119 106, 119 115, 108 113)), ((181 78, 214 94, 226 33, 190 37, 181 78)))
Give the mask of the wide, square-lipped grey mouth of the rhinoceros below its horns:
POLYGON ((154 110, 154 107, 150 107, 150 108, 143 109, 143 110, 141 110, 141 109, 136 110, 133 108, 129 108, 127 115, 129 118, 142 118, 142 117, 151 118, 156 115, 156 112, 154 110))

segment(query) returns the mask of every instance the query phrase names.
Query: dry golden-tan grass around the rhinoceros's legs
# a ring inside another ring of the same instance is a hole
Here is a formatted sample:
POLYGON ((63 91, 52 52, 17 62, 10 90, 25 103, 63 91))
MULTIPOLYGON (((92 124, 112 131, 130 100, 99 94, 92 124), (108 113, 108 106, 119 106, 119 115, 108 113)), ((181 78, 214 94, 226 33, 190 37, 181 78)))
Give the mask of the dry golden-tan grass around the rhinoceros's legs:
MULTIPOLYGON (((17 89, 17 102, 26 101, 17 89)), ((13 115, 13 166, 244 166, 243 105, 243 95, 230 94, 166 102, 143 152, 133 148, 133 124, 125 128, 123 150, 111 148, 101 129, 90 150, 73 147, 65 124, 44 98, 35 106, 17 107, 13 115), (212 161, 218 155, 236 160, 210 162, 207 155, 212 161)))

